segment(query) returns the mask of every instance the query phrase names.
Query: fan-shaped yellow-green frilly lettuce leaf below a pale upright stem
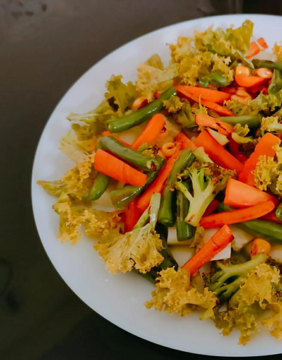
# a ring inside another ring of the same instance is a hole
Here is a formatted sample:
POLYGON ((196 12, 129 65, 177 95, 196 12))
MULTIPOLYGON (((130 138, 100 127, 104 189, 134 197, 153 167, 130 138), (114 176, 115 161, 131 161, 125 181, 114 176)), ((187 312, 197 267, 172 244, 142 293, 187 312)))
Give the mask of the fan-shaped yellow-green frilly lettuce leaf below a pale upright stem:
POLYGON ((112 274, 118 270, 126 273, 133 266, 146 273, 164 260, 159 253, 163 248, 162 240, 150 224, 124 235, 99 239, 94 248, 99 251, 99 256, 107 263, 106 269, 112 274))

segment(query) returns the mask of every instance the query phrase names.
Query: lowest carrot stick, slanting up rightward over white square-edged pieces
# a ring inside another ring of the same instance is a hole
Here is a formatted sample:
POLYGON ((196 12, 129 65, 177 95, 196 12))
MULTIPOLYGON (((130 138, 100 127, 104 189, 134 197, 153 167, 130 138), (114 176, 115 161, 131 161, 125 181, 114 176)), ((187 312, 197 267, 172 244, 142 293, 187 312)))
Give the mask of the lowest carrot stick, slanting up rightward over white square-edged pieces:
POLYGON ((221 229, 213 235, 210 240, 193 256, 190 260, 182 266, 182 269, 189 271, 190 276, 193 276, 203 265, 215 257, 220 251, 231 243, 234 236, 227 225, 222 226, 221 229))

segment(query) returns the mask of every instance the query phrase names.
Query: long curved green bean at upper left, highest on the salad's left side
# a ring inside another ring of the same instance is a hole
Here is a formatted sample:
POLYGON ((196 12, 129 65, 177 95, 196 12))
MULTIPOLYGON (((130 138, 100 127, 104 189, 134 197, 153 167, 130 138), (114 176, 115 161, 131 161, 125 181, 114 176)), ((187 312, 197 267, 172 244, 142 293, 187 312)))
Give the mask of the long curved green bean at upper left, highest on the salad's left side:
POLYGON ((153 100, 147 106, 132 111, 122 117, 111 119, 105 122, 107 130, 110 132, 122 132, 136 125, 142 124, 144 121, 149 120, 154 114, 159 113, 164 108, 164 100, 168 100, 171 96, 176 95, 175 87, 169 87, 159 99, 153 100))

